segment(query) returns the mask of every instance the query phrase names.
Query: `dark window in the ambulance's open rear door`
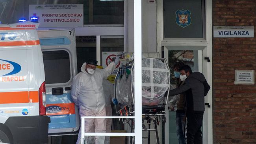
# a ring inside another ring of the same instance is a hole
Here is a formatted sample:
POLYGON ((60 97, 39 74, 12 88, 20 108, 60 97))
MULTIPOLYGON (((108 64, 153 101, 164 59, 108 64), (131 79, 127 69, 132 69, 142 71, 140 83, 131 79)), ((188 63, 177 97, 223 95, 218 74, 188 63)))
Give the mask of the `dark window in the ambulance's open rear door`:
POLYGON ((65 50, 43 52, 45 82, 66 83, 70 79, 69 53, 65 50))

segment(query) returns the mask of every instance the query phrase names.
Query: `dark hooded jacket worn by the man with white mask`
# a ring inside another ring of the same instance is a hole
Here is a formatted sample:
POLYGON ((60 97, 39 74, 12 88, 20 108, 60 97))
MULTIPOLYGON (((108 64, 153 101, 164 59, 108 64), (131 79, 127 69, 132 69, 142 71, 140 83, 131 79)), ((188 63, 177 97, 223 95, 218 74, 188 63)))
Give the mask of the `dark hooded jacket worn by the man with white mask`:
POLYGON ((210 90, 204 75, 200 72, 194 72, 184 81, 180 87, 170 90, 170 95, 174 96, 185 92, 186 95, 186 112, 187 113, 204 113, 204 96, 210 90))

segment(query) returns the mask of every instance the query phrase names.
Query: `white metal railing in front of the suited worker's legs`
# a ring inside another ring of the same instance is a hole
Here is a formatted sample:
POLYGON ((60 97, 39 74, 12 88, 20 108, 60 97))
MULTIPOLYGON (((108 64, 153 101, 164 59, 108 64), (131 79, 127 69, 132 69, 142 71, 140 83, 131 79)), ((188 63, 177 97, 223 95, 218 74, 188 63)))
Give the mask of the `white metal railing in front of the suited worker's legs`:
MULTIPOLYGON (((135 136, 135 133, 84 133, 85 118, 135 118, 135 116, 82 116, 81 117, 81 144, 84 144, 85 136, 135 136)), ((132 128, 132 127, 131 127, 132 128)))

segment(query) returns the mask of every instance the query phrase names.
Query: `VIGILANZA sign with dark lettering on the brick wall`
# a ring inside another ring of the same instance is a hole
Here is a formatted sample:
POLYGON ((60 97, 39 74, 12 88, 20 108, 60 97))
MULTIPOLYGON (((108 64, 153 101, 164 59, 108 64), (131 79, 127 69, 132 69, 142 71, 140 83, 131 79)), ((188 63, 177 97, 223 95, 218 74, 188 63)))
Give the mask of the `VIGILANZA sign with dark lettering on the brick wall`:
POLYGON ((254 37, 254 26, 213 26, 213 37, 254 37))

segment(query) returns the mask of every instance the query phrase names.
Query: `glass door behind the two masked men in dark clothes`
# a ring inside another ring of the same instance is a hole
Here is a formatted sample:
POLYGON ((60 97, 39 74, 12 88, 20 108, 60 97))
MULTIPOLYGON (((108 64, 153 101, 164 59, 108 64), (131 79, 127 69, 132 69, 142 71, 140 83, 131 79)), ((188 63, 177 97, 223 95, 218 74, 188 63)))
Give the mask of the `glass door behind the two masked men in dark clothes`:
MULTIPOLYGON (((170 71, 171 71, 171 84, 173 87, 176 87, 176 79, 174 78, 174 70, 173 65, 177 61, 182 61, 185 65, 189 65, 193 72, 201 72, 204 74, 204 76, 207 78, 206 73, 206 65, 207 60, 204 59, 206 57, 206 47, 200 47, 195 46, 195 48, 186 48, 184 46, 183 48, 180 46, 166 46, 164 48, 164 57, 167 59, 170 71)), ((173 97, 170 97, 169 100, 171 100, 173 97)), ((205 97, 205 102, 207 102, 207 96, 205 97)), ((176 105, 175 105, 176 106, 176 105)), ((167 105, 168 107, 168 105, 167 105)), ((165 140, 165 142, 168 142, 169 144, 178 144, 178 137, 176 133, 176 110, 177 108, 174 107, 174 111, 171 109, 166 109, 165 113, 167 114, 167 122, 165 124, 165 138, 168 140, 165 140)), ((203 132, 203 141, 204 143, 206 141, 205 138, 207 138, 207 107, 204 112, 204 119, 203 119, 203 125, 202 125, 202 132, 203 132)))

